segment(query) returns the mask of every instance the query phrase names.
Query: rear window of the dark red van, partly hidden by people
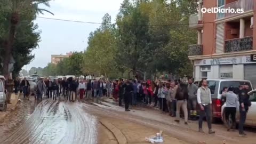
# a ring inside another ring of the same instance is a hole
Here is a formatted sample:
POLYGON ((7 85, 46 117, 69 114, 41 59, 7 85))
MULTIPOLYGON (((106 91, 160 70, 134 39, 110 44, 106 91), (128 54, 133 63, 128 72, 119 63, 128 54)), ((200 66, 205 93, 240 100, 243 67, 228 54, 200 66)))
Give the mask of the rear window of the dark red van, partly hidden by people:
POLYGON ((239 85, 249 85, 249 91, 252 90, 252 86, 249 82, 245 82, 245 81, 223 81, 220 83, 220 94, 222 93, 223 89, 225 87, 230 87, 233 86, 235 89, 239 89, 239 85))

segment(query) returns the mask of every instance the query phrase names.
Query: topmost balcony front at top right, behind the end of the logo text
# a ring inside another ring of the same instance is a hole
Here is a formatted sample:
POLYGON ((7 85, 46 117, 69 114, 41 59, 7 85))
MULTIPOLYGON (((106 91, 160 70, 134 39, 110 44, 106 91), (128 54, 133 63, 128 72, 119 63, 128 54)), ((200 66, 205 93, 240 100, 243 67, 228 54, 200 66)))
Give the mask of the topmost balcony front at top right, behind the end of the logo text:
MULTIPOLYGON (((253 10, 253 1, 254 0, 238 0, 229 4, 225 5, 225 8, 228 9, 230 7, 230 9, 234 9, 235 11, 237 9, 244 9, 244 12, 246 11, 250 11, 253 10)), ((225 13, 225 17, 232 17, 234 15, 237 15, 239 13, 225 13)))

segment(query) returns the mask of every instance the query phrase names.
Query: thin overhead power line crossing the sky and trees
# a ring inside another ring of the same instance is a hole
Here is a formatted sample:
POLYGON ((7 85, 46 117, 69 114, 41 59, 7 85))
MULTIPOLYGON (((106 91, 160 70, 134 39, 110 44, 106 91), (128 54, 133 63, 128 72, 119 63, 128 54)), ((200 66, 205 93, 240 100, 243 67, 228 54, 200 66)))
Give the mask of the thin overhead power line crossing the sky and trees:
MULTIPOLYGON (((68 20, 68 19, 57 19, 57 18, 46 18, 46 17, 37 17, 41 19, 48 19, 48 20, 58 20, 58 21, 67 21, 67 22, 77 22, 77 23, 90 23, 90 24, 98 24, 98 25, 115 25, 115 23, 102 23, 102 22, 88 22, 88 21, 77 21, 77 20, 68 20)), ((203 22, 202 24, 205 23, 214 23, 214 22, 203 22)), ((124 25, 124 24, 119 24, 120 26, 188 26, 188 25, 197 25, 198 23, 172 23, 172 24, 166 24, 166 25, 124 25)))

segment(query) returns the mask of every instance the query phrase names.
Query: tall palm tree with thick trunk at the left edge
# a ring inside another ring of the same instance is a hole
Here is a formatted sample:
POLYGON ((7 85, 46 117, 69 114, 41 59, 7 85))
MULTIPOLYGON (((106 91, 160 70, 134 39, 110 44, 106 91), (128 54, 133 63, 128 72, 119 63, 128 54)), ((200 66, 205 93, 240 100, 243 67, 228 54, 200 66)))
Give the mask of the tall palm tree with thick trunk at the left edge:
POLYGON ((43 14, 44 12, 48 12, 53 14, 52 12, 46 9, 40 9, 38 5, 43 4, 47 7, 50 7, 51 0, 1 0, 0 5, 4 5, 4 11, 8 13, 7 19, 9 20, 9 29, 7 31, 7 36, 4 41, 4 61, 3 61, 3 75, 7 78, 9 76, 9 62, 11 59, 11 52, 13 41, 15 38, 15 33, 18 24, 27 19, 23 15, 36 15, 43 14), (22 16, 22 17, 21 17, 22 16))

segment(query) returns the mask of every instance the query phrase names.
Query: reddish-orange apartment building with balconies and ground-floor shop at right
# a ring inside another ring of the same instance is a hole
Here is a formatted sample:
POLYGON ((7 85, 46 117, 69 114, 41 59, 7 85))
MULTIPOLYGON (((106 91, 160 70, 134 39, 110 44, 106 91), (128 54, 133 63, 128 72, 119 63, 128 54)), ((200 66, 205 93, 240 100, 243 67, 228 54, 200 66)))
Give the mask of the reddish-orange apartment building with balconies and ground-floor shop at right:
POLYGON ((189 45, 194 78, 250 80, 256 87, 256 0, 199 0, 189 27, 197 30, 197 44, 189 45), (243 13, 202 13, 205 7, 244 9, 243 13))

